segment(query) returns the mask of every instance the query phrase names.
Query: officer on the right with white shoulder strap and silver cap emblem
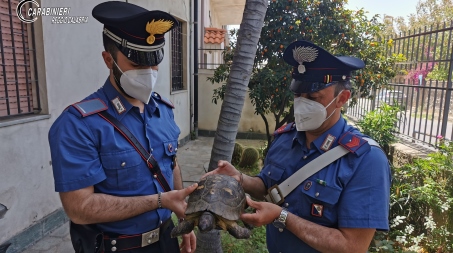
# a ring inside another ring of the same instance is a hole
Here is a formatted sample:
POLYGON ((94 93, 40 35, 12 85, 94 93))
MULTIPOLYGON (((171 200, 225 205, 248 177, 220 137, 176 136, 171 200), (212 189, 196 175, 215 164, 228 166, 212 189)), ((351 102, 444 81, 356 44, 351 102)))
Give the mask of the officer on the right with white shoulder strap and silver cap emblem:
POLYGON ((385 153, 340 113, 351 71, 365 64, 307 41, 292 43, 283 57, 293 66, 295 123, 274 133, 257 177, 226 161, 210 173, 242 180, 247 193, 268 201, 248 199, 256 212, 241 219, 267 225, 270 253, 364 253, 376 230, 389 229, 391 181, 385 153))

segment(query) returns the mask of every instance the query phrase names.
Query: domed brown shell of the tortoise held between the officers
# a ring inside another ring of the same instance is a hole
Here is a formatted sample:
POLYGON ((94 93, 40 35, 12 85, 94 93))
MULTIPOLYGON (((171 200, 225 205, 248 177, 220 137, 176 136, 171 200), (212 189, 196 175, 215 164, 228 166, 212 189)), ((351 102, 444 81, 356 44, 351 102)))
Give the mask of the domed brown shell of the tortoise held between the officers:
POLYGON ((186 214, 210 211, 228 220, 238 220, 246 205, 244 189, 226 175, 209 175, 189 195, 186 214))

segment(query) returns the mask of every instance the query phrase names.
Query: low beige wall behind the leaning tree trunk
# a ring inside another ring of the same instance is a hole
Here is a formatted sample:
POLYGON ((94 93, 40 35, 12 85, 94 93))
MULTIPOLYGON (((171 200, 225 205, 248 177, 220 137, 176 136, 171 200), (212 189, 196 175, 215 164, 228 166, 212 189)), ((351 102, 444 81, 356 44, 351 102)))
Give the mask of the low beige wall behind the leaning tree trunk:
MULTIPOLYGON (((217 104, 212 103, 212 94, 215 88, 220 87, 220 84, 211 84, 207 81, 207 77, 212 76, 214 70, 200 69, 198 74, 198 129, 215 131, 219 120, 220 108, 222 101, 217 101, 217 104)), ((269 129, 271 133, 275 128, 275 120, 271 115, 267 116, 269 129)), ((239 132, 255 132, 266 133, 266 126, 261 116, 255 114, 255 107, 247 97, 242 109, 241 121, 239 122, 239 132)))

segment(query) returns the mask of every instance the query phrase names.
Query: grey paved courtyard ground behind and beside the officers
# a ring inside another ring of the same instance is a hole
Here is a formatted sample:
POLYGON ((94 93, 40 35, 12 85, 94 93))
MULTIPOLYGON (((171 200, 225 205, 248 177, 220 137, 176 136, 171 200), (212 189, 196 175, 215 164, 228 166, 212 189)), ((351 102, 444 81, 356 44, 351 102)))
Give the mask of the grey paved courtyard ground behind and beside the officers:
MULTIPOLYGON (((184 186, 198 182, 205 173, 204 164, 209 162, 214 138, 199 137, 190 141, 178 150, 178 162, 182 168, 184 186)), ((262 140, 238 140, 244 146, 261 147, 262 140)), ((36 244, 23 251, 23 253, 66 253, 73 252, 69 237, 69 224, 60 228, 38 241, 36 244)))

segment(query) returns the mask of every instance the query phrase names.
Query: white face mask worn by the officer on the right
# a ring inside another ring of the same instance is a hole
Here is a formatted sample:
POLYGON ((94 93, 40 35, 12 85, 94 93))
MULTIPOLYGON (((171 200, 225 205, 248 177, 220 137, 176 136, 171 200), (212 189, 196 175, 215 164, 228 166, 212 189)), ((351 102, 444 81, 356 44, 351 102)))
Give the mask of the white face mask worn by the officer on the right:
MULTIPOLYGON (((343 91, 341 91, 343 92, 343 91)), ((333 115, 335 110, 327 117, 327 107, 341 94, 341 92, 326 106, 304 97, 294 98, 294 118, 297 131, 311 131, 321 127, 322 123, 333 115)))

